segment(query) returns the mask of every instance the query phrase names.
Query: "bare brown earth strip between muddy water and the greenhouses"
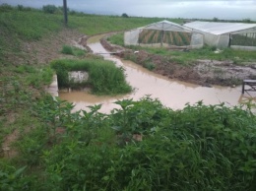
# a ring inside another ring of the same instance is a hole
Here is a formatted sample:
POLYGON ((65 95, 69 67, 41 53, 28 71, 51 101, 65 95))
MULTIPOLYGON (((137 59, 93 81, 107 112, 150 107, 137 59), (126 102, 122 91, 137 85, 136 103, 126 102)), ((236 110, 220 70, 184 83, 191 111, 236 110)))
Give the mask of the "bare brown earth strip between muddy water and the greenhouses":
POLYGON ((101 44, 109 51, 117 51, 121 58, 133 58, 137 64, 144 65, 151 60, 155 65, 154 72, 170 79, 177 79, 201 86, 231 86, 241 84, 244 79, 256 78, 256 63, 236 65, 232 61, 197 60, 193 66, 182 66, 165 56, 150 54, 144 50, 136 51, 110 44, 102 39, 101 44))

